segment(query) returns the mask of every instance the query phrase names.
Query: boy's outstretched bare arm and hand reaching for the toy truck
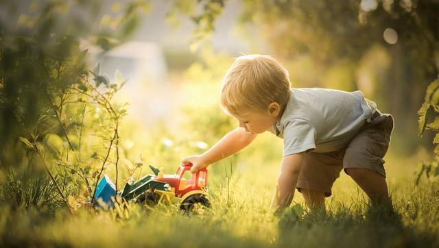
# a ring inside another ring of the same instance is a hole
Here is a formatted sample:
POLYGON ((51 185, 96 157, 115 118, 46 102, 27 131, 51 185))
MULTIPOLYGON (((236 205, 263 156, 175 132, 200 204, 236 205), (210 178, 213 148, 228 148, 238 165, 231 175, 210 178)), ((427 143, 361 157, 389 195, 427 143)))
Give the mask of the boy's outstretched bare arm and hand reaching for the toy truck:
POLYGON ((257 134, 246 132, 244 127, 237 127, 233 131, 226 134, 219 140, 211 149, 207 150, 202 155, 189 156, 181 160, 182 164, 192 164, 191 173, 195 173, 200 169, 213 164, 223 158, 241 151, 248 146, 257 134))

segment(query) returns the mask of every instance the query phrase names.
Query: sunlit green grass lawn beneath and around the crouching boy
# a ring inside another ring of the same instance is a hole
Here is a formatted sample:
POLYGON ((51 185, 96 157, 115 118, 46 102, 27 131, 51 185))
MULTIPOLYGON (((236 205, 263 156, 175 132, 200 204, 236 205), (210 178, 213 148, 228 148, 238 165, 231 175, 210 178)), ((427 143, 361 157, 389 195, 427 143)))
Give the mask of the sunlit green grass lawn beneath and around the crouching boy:
POLYGON ((438 247, 439 185, 423 181, 414 187, 415 167, 407 163, 418 161, 416 156, 388 160, 394 213, 370 208, 342 173, 327 200, 327 213, 307 212, 298 194, 292 208, 275 216, 268 208, 275 165, 260 166, 255 173, 238 158, 233 173, 229 164, 211 170, 223 177, 213 175, 213 207, 205 214, 188 216, 178 206, 145 209, 135 204, 107 212, 81 208, 74 214, 66 209, 44 214, 3 203, 0 246, 438 247), (405 164, 398 165, 401 161, 405 164))

